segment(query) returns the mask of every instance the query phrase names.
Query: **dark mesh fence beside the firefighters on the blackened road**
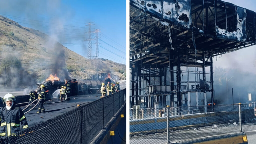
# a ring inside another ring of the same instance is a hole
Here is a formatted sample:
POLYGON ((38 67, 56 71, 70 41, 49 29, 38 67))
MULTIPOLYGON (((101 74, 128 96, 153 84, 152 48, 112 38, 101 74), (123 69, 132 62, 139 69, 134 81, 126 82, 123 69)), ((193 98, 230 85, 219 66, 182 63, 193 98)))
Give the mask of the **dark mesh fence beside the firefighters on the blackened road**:
POLYGON ((2 143, 90 143, 126 101, 126 89, 29 127, 2 143))

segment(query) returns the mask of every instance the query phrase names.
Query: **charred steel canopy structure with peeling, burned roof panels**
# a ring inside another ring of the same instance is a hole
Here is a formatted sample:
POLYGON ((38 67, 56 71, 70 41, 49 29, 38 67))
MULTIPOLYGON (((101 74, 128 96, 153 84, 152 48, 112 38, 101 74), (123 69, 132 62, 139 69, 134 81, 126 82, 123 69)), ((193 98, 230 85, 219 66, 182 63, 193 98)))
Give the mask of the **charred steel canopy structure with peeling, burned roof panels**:
POLYGON ((213 105, 217 55, 255 45, 255 13, 219 0, 130 0, 130 105, 213 105))

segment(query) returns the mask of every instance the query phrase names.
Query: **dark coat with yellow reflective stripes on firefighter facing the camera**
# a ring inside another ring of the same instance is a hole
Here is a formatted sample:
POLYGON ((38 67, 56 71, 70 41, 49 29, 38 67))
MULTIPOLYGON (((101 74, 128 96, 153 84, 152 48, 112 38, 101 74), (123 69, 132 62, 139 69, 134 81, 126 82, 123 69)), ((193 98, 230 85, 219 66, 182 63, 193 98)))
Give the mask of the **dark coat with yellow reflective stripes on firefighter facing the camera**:
POLYGON ((27 118, 20 107, 15 107, 15 104, 11 109, 7 110, 4 106, 0 109, 0 136, 11 136, 14 133, 20 131, 19 124, 23 129, 28 128, 27 118))

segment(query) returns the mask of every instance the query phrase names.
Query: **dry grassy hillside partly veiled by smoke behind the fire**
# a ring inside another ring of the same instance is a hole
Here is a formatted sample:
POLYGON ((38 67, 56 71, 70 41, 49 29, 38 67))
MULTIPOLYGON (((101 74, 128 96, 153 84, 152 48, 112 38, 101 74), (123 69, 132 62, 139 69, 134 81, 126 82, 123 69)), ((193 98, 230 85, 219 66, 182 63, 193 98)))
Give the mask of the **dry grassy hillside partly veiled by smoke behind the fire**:
POLYGON ((97 79, 97 75, 105 77, 108 73, 125 78, 121 73, 126 65, 108 59, 98 61, 98 68, 94 68, 93 60, 0 15, 0 88, 35 85, 50 74, 60 80, 92 79, 93 75, 97 79))

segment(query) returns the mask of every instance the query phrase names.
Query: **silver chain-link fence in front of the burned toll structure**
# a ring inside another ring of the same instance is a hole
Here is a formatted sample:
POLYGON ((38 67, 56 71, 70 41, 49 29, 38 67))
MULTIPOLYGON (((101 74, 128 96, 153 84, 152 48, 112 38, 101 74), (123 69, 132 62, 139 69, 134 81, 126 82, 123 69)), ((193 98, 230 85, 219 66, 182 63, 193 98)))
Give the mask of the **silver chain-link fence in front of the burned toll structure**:
POLYGON ((254 105, 241 104, 240 109, 238 104, 143 109, 133 106, 130 143, 193 143, 256 130, 254 105))

